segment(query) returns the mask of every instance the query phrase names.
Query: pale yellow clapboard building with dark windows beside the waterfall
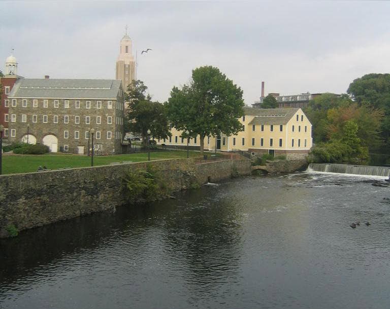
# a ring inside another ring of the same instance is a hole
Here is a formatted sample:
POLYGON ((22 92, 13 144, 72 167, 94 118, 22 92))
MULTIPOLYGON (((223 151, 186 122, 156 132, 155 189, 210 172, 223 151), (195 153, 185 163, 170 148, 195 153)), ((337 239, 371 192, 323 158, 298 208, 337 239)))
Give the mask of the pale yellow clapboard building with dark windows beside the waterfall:
MULTIPOLYGON (((311 123, 301 108, 258 109, 244 107, 245 116, 240 118, 244 131, 237 135, 221 135, 216 139, 206 137, 206 150, 243 150, 252 156, 271 153, 287 157, 304 157, 312 146, 311 123)), ((186 147, 187 139, 181 131, 171 128, 172 136, 158 140, 158 144, 186 147)), ((199 148, 200 137, 191 138, 191 148, 199 148)))

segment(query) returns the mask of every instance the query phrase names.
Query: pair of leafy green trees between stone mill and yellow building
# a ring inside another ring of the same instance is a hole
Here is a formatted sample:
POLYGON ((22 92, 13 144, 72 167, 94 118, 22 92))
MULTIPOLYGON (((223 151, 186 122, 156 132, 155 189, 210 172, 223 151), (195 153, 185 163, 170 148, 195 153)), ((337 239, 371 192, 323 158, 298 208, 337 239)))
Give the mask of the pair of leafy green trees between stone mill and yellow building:
POLYGON ((164 104, 152 101, 142 81, 133 81, 127 88, 128 131, 148 142, 148 130, 153 138, 167 139, 170 127, 182 131, 182 137, 200 136, 203 155, 204 138, 219 134, 236 134, 243 129, 238 118, 244 115, 242 90, 213 66, 192 70, 191 80, 181 89, 173 87, 164 104))

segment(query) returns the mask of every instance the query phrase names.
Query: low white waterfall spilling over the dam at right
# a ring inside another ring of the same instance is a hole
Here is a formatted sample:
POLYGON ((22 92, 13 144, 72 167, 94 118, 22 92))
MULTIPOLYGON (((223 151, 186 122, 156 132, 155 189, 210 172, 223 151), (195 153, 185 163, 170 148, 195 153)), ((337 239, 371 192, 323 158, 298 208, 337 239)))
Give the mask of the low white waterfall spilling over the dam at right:
POLYGON ((366 166, 366 165, 348 165, 335 163, 310 163, 307 168, 308 172, 326 172, 339 174, 355 174, 355 175, 370 175, 383 176, 390 175, 390 167, 383 166, 366 166))

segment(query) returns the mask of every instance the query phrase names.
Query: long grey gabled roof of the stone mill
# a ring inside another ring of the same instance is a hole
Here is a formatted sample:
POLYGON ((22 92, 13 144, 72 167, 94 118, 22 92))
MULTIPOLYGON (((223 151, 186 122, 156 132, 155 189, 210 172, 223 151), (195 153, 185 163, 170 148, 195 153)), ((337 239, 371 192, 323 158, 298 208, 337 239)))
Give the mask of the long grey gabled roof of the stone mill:
POLYGON ((9 98, 116 99, 119 80, 20 79, 9 98))

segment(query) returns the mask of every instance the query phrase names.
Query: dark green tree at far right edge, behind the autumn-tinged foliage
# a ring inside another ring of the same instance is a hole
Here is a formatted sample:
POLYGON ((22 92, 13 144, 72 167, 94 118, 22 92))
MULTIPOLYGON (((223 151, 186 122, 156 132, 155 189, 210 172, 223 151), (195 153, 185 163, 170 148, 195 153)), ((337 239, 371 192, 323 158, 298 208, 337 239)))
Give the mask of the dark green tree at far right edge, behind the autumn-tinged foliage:
POLYGON ((379 108, 384 117, 381 122, 381 152, 390 152, 390 74, 366 74, 355 79, 347 90, 360 105, 379 108))

